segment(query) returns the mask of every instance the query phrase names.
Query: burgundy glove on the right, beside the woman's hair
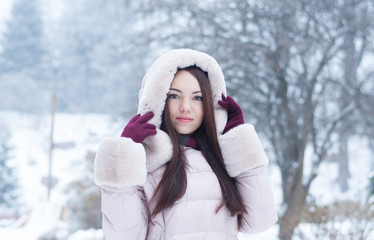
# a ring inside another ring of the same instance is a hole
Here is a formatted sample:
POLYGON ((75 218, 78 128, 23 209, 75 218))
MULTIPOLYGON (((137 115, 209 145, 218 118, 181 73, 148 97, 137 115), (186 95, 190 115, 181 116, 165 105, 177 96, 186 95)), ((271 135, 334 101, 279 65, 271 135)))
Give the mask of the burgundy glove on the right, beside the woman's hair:
POLYGON ((223 134, 228 132, 230 129, 233 129, 234 127, 244 124, 243 111, 232 97, 225 97, 222 94, 222 100, 218 101, 218 104, 221 105, 221 107, 225 108, 228 114, 228 119, 226 127, 223 130, 223 134))

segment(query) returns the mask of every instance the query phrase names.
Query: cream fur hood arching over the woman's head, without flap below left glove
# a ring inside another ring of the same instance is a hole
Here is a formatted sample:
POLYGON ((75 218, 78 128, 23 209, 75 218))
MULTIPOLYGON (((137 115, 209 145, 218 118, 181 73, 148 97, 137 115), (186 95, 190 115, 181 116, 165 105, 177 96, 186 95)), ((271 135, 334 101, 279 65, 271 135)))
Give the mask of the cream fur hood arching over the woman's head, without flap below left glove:
POLYGON ((227 112, 218 101, 226 95, 226 84, 221 67, 217 61, 206 53, 192 49, 174 49, 161 55, 147 71, 139 91, 138 113, 152 111, 154 117, 149 123, 155 124, 158 131, 162 122, 167 93, 178 68, 196 65, 208 73, 212 88, 214 113, 218 134, 222 134, 227 122, 227 112))

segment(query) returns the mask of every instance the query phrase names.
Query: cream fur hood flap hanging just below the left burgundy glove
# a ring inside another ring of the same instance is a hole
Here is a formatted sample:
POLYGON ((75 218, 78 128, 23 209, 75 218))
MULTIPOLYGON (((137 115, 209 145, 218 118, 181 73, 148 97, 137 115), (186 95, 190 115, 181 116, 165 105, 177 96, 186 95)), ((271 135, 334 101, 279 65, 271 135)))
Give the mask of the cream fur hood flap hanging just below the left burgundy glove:
POLYGON ((143 142, 147 156, 147 171, 153 172, 167 163, 173 155, 173 145, 164 131, 157 129, 157 134, 147 137, 143 142))

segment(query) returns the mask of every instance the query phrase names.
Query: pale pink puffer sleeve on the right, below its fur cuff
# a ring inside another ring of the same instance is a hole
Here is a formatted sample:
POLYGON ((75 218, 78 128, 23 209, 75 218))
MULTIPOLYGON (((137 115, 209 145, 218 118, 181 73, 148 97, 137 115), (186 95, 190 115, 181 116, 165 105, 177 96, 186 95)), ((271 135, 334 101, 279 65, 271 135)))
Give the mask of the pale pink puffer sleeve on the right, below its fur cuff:
POLYGON ((237 176, 236 186, 247 210, 243 216, 241 232, 263 232, 277 222, 273 193, 264 166, 237 176))

